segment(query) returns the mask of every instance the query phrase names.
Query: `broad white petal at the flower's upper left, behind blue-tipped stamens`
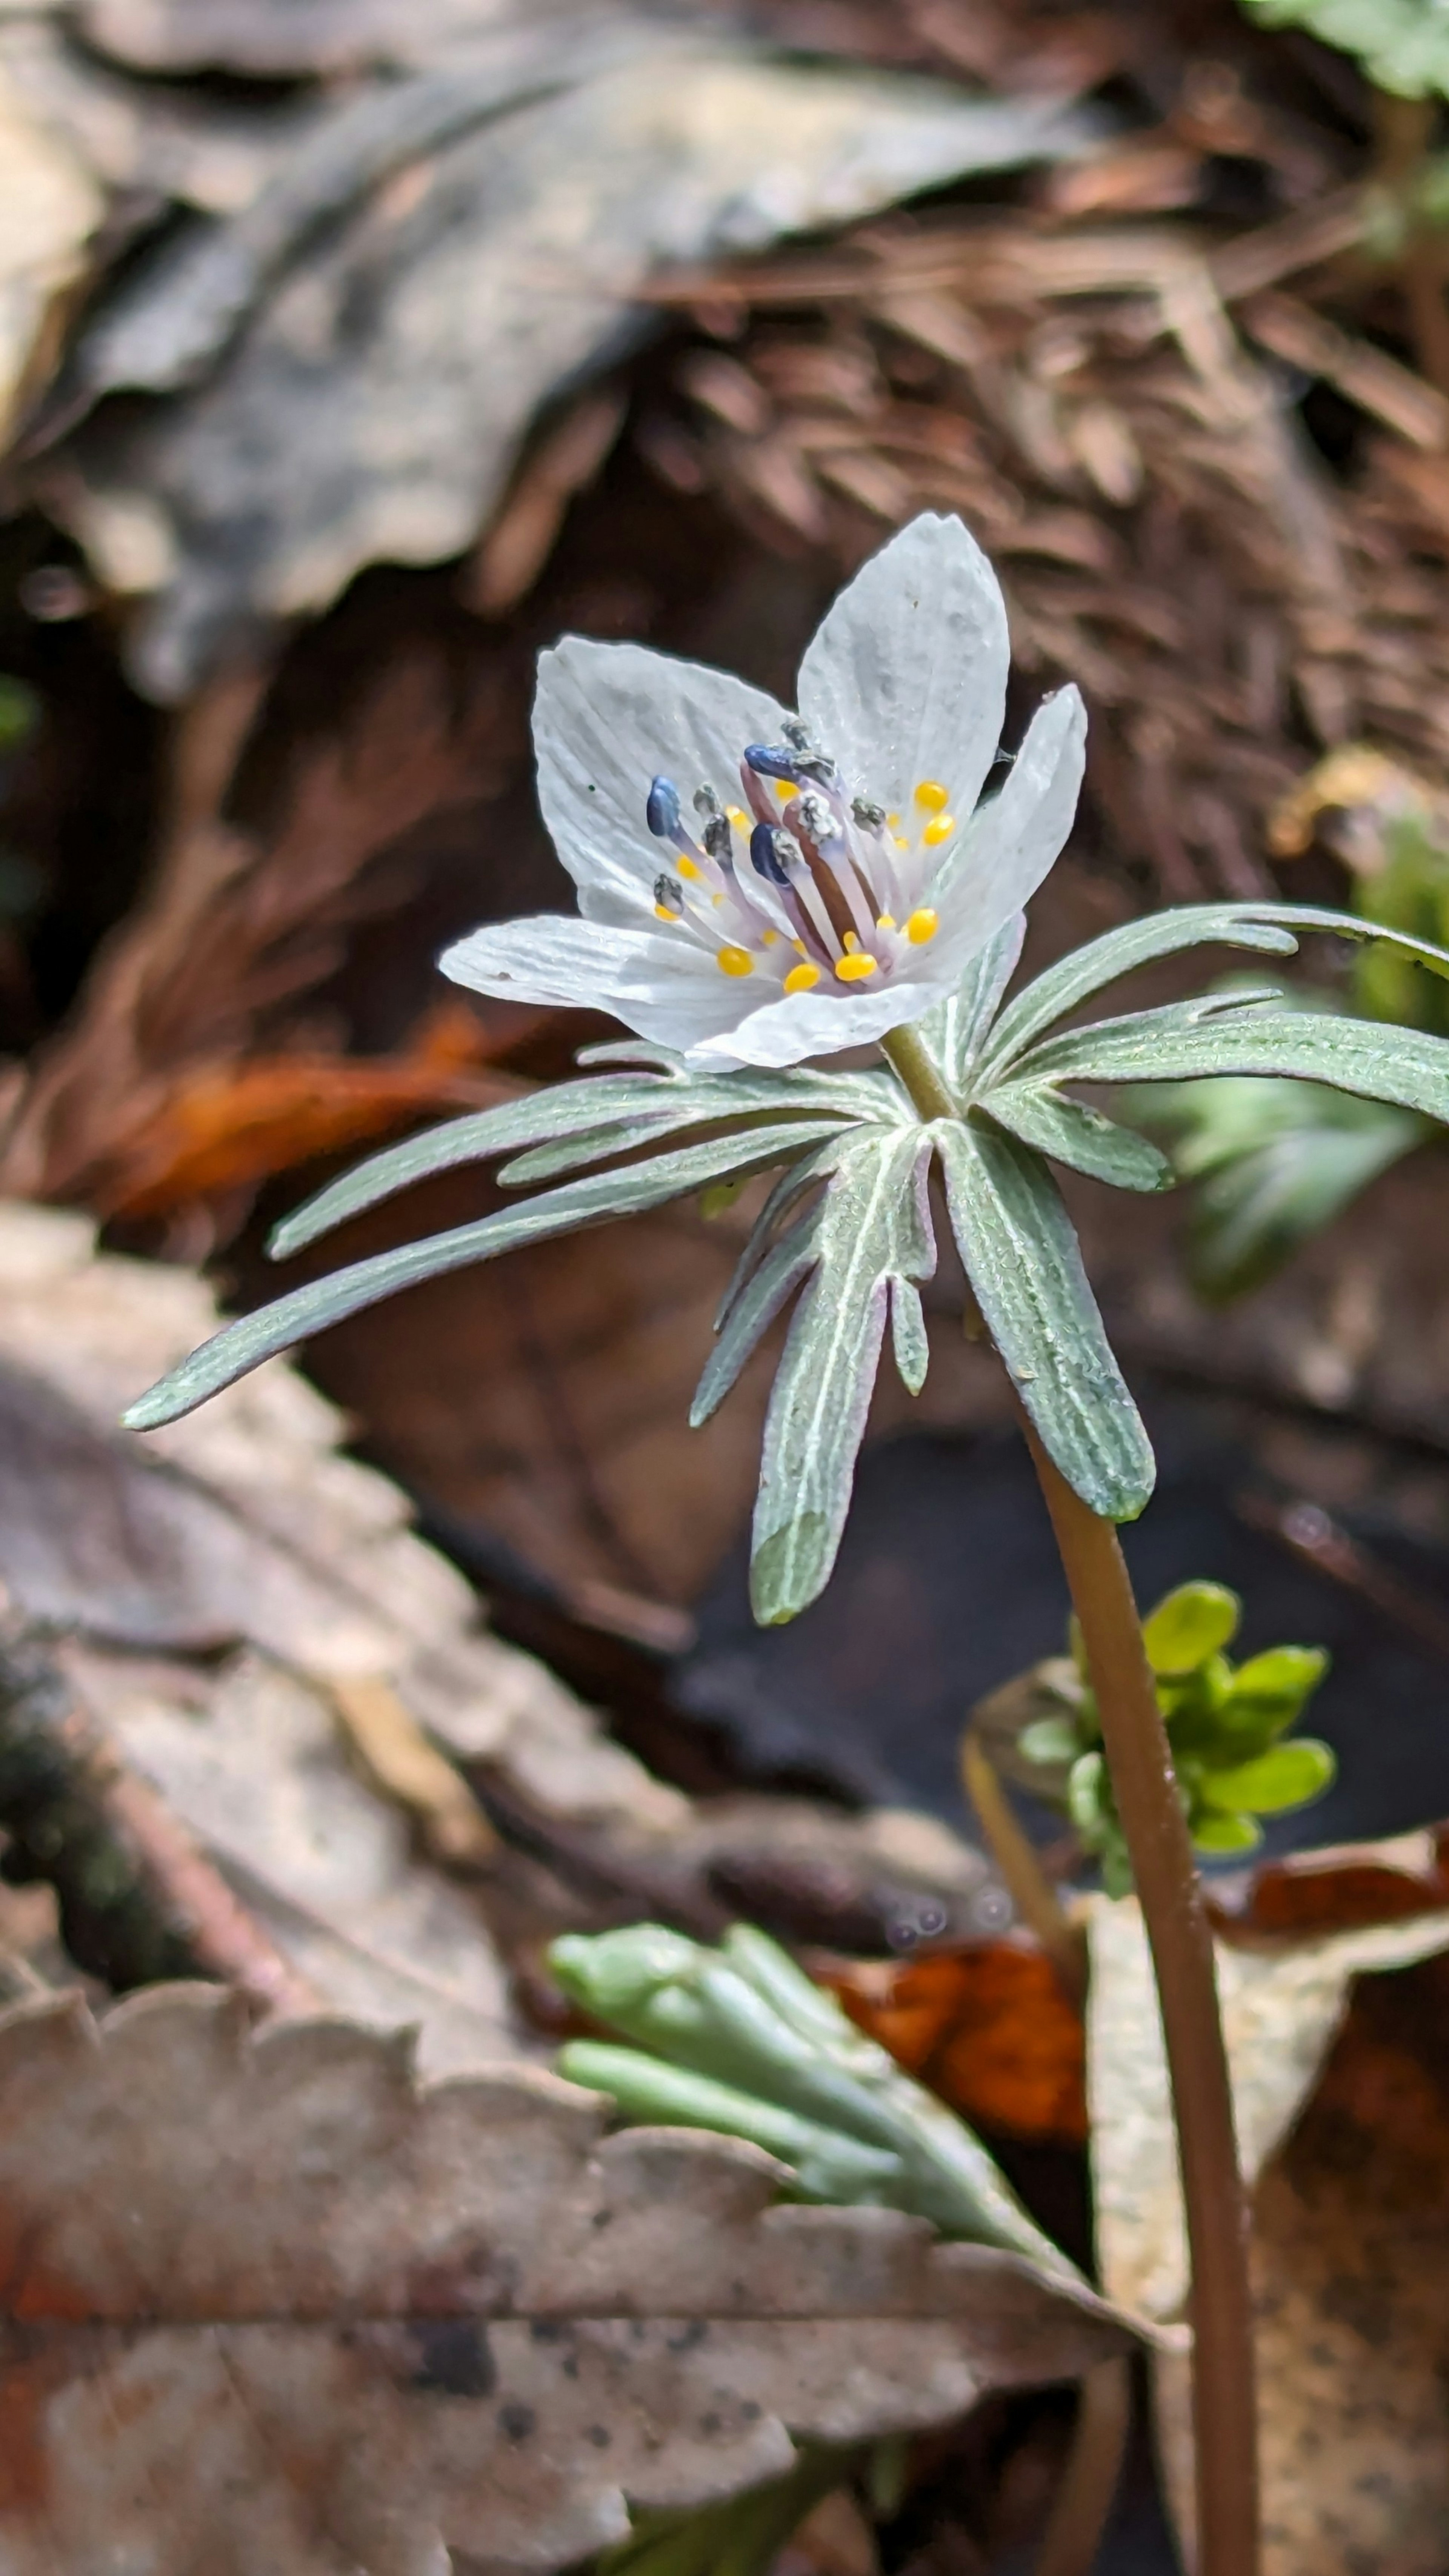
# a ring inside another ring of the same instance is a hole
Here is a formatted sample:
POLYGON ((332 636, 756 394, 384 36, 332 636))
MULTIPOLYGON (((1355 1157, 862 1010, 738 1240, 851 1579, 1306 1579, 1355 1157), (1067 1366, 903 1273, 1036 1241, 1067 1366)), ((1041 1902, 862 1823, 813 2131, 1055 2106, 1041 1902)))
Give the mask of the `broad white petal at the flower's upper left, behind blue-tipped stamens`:
POLYGON ((637 922, 673 853, 650 837, 645 801, 673 778, 688 814, 699 786, 722 804, 740 793, 748 742, 779 742, 784 711, 763 688, 642 644, 565 636, 539 657, 534 750, 539 804, 596 922, 637 922))

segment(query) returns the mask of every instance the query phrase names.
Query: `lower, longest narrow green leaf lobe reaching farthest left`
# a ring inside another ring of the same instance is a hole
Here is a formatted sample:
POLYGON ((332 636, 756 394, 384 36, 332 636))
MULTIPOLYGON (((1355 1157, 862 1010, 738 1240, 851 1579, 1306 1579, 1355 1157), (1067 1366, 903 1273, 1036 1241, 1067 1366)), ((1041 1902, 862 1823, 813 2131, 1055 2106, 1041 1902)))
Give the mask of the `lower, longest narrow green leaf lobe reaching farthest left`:
POLYGON ((500 1252, 513 1252, 518 1244, 536 1244, 549 1234, 567 1234, 606 1216, 657 1208, 663 1200, 681 1198, 686 1190, 696 1190, 722 1172, 768 1170, 817 1144, 825 1133, 833 1133, 828 1121, 799 1118, 792 1126, 768 1126, 755 1133, 714 1136, 706 1144, 657 1154, 652 1162, 637 1162, 619 1172, 593 1172, 588 1180, 549 1190, 544 1198, 531 1198, 518 1208, 498 1208, 495 1216, 482 1216, 472 1226, 431 1234, 418 1244, 402 1244, 397 1252, 376 1252, 366 1262, 353 1262, 348 1270, 333 1270, 325 1280, 294 1288, 291 1296, 278 1298, 276 1306, 263 1306, 260 1314, 242 1316, 240 1324, 227 1324, 224 1332, 204 1342, 201 1350, 193 1350, 188 1360, 139 1396, 124 1419, 131 1430, 155 1430, 160 1422, 175 1422, 178 1414, 188 1414, 206 1396, 219 1394, 222 1386, 232 1386, 258 1360, 268 1360, 273 1352, 304 1342, 312 1332, 358 1314, 361 1306, 376 1306, 379 1298, 394 1296, 400 1288, 415 1288, 443 1270, 464 1270, 469 1262, 487 1262, 500 1252))

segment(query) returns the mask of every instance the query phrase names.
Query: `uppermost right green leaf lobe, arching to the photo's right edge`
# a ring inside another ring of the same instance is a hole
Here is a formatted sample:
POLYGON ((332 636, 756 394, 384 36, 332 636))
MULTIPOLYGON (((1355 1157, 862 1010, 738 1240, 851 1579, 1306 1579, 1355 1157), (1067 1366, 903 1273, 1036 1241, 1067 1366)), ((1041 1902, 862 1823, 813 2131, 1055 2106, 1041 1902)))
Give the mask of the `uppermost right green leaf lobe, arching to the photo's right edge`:
MULTIPOLYGON (((1036 976, 1026 992, 1008 1002, 995 1023, 977 1066, 977 1097, 987 1082, 998 1082, 1018 1059, 1047 1036, 1057 1020, 1080 1010, 1093 992, 1116 984, 1119 976, 1147 966, 1152 958, 1173 956, 1181 948, 1256 948, 1266 956, 1292 956, 1299 933, 1320 930, 1341 940, 1387 940, 1390 948, 1413 956, 1431 974, 1449 976, 1449 951, 1415 940, 1408 933, 1374 922, 1361 922, 1351 912, 1328 912, 1318 904, 1183 904, 1176 912, 1155 912, 1140 922, 1106 930, 1104 938, 1073 948, 1057 966, 1036 976)), ((1065 1079, 1065 1077, 1062 1077, 1065 1079)))

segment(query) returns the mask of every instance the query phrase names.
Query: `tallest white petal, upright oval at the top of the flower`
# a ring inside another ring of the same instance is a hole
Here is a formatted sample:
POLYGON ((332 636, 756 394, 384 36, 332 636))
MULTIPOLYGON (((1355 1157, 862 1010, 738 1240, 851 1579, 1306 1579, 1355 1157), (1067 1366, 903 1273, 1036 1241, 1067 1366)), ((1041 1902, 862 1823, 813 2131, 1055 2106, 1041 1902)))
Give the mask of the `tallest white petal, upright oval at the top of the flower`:
POLYGON ((936 778, 980 796, 1006 714, 1000 582, 959 518, 913 518, 841 592, 799 665, 799 714, 851 793, 910 809, 936 778))

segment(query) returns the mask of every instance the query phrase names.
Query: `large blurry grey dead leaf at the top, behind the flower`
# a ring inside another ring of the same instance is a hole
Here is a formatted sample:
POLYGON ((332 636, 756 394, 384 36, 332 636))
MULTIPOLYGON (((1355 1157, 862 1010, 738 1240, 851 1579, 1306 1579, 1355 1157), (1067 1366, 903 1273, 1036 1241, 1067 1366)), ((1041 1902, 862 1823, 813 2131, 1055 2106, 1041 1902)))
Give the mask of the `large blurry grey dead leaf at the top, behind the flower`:
MULTIPOLYGON (((629 21, 611 44, 627 36, 629 21)), ((446 85, 438 95, 449 113, 446 85)), ((196 392, 98 415, 41 474, 101 577, 160 592, 131 647, 160 698, 183 696, 258 621, 322 608, 366 562, 462 554, 539 404, 652 327, 639 289, 655 268, 1055 157, 1088 131, 1055 100, 802 70, 663 26, 634 59, 487 116, 376 185, 387 111, 364 98, 338 113, 371 137, 351 211, 333 173, 320 234, 299 237, 278 204, 276 224, 253 209, 229 240, 165 252, 150 304, 142 283, 126 289, 126 348, 157 363, 131 358, 126 379, 111 350, 103 381, 165 381, 175 299, 178 348, 201 363, 191 260, 227 268, 219 304, 245 327, 196 392)), ((333 144, 322 131, 309 149, 325 162, 333 144)), ((80 379, 108 330, 101 309, 80 379)))

